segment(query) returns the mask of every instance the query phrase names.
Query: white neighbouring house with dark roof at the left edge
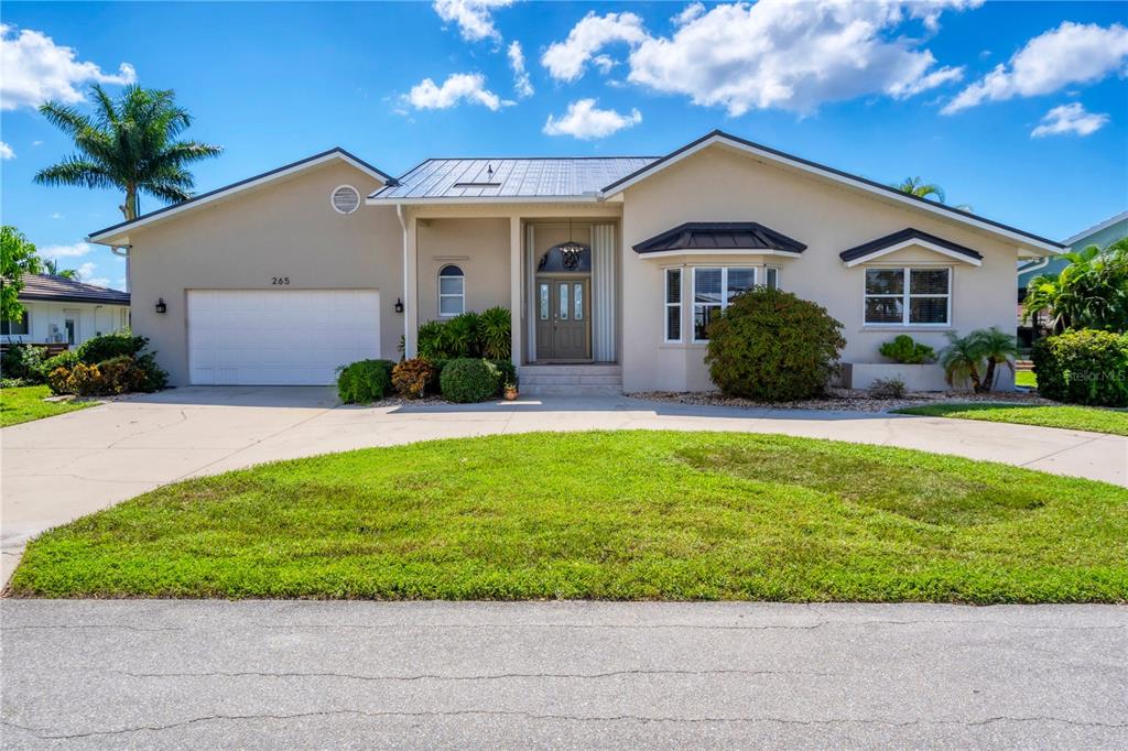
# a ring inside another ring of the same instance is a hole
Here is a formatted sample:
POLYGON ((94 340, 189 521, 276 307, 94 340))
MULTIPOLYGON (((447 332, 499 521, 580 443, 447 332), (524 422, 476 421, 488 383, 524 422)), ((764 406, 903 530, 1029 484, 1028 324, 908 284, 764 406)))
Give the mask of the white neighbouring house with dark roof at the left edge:
POLYGON ((0 321, 5 344, 69 344, 74 347, 130 325, 129 292, 83 284, 65 276, 25 274, 24 315, 0 321))

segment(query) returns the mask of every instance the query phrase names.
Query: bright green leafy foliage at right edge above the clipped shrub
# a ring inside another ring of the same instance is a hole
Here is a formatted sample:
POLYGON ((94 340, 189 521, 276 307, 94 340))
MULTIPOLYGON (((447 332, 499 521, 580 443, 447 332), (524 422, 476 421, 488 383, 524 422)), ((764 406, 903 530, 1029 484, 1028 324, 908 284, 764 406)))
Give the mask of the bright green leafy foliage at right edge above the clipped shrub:
POLYGON ((1050 310, 1054 330, 1128 330, 1128 238, 1103 250, 1091 245, 1063 257, 1069 263, 1057 277, 1042 274, 1030 281, 1023 320, 1050 310))

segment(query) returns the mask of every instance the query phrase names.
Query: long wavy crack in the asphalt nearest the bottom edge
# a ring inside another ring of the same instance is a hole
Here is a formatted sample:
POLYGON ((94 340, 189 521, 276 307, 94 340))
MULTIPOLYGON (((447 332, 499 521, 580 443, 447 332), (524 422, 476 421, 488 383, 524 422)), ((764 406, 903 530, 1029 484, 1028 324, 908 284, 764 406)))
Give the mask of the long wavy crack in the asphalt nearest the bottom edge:
POLYGON ((1068 717, 1052 717, 1052 716, 1028 716, 1028 717, 1010 717, 1010 716, 995 716, 985 717, 982 719, 909 719, 901 722, 893 722, 887 719, 857 719, 851 717, 835 717, 828 719, 796 719, 793 717, 662 717, 662 716, 646 716, 646 715, 556 715, 556 714, 540 714, 534 712, 519 712, 519 710, 499 710, 499 709, 455 709, 448 712, 365 712, 363 709, 324 709, 318 712, 302 712, 288 715, 277 714, 249 714, 249 715, 203 715, 200 717, 190 717, 188 719, 183 719, 176 723, 169 723, 166 725, 139 725, 135 727, 121 727, 114 730, 104 731, 87 731, 85 733, 70 733, 70 734, 50 734, 46 728, 30 727, 27 725, 19 725, 11 722, 2 722, 3 726, 15 727, 17 730, 25 731, 35 735, 41 740, 51 741, 69 741, 78 740, 85 737, 97 737, 107 735, 122 735, 125 733, 141 733, 141 732, 162 732, 168 730, 176 730, 178 727, 185 727, 187 725, 193 725, 196 723, 205 722, 254 722, 254 721, 279 721, 285 722, 290 719, 303 719, 307 717, 333 717, 333 716, 344 716, 353 715, 359 717, 416 717, 416 718, 438 718, 438 717, 466 717, 466 716, 484 716, 484 717, 519 717, 521 719, 540 719, 540 721, 562 721, 562 722, 581 722, 581 723, 617 723, 617 722, 637 722, 637 723, 687 723, 687 724, 710 724, 710 723, 773 723, 779 725, 881 725, 885 727, 914 727, 914 726, 933 726, 933 725, 962 725, 966 727, 979 727, 985 725, 990 725, 995 723, 1057 723, 1064 725, 1073 725, 1078 727, 1105 727, 1105 728, 1120 728, 1128 727, 1128 723, 1101 723, 1101 722, 1083 722, 1077 719, 1069 719, 1068 717))

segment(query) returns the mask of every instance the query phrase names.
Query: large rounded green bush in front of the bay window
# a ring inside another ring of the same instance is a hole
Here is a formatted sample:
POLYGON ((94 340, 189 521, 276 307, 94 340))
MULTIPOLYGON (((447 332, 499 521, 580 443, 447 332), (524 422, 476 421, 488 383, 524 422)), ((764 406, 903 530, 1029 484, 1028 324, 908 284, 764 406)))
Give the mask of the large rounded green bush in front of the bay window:
POLYGON ((838 372, 843 325, 790 292, 738 295, 708 328, 705 364, 722 392, 761 401, 822 394, 838 372))

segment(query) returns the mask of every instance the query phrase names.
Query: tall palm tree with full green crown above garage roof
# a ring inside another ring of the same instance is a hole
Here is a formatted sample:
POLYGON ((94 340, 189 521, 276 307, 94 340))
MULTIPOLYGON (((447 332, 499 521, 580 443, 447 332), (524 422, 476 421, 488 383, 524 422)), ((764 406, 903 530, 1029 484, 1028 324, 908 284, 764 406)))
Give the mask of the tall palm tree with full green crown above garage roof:
POLYGON ((112 99, 96 83, 90 96, 92 117, 59 101, 39 107, 47 122, 73 139, 78 152, 39 170, 35 182, 124 191, 118 207, 126 221, 138 218, 142 193, 173 203, 190 198, 195 183, 186 167, 219 156, 221 148, 177 139, 192 117, 176 105, 174 92, 130 86, 112 99))

